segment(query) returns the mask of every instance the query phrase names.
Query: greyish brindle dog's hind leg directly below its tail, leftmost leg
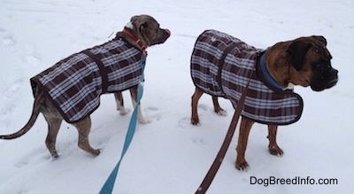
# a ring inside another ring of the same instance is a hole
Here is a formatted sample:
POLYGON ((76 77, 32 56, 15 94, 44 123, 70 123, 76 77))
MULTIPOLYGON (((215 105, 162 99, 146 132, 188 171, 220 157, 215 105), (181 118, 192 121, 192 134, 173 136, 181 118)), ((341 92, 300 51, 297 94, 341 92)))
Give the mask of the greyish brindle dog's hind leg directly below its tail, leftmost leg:
POLYGON ((63 119, 50 118, 47 117, 46 115, 44 115, 44 119, 47 120, 48 123, 48 135, 47 138, 45 139, 45 144, 47 145, 47 148, 50 151, 51 156, 54 158, 58 158, 59 156, 56 149, 56 142, 57 142, 58 131, 63 119))

